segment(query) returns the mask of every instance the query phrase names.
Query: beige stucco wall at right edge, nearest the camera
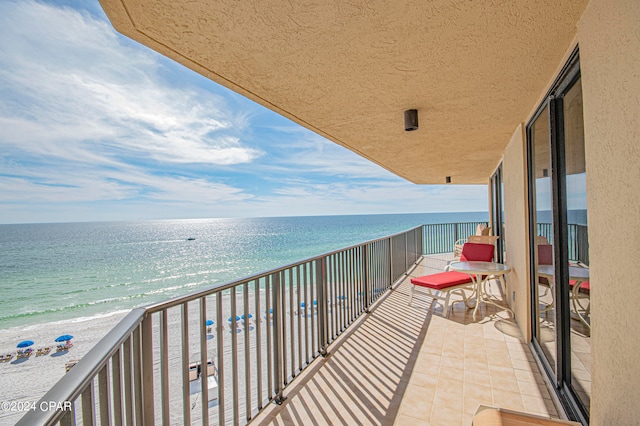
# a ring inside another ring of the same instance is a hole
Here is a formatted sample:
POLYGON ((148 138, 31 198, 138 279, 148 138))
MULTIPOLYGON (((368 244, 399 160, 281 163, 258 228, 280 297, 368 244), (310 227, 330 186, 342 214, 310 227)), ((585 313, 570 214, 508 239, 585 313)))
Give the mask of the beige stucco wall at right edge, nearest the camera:
POLYGON ((640 421, 640 3, 592 0, 578 26, 591 259, 591 424, 640 421))

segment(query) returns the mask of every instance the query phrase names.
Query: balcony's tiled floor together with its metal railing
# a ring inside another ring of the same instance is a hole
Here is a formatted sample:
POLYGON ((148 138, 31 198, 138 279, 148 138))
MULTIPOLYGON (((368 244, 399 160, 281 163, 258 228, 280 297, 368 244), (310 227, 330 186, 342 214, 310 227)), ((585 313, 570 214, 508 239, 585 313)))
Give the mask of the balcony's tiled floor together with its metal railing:
POLYGON ((425 225, 135 309, 41 399, 55 409, 18 424, 449 425, 479 404, 557 416, 509 314, 408 306, 409 277, 442 271, 475 226, 425 225))

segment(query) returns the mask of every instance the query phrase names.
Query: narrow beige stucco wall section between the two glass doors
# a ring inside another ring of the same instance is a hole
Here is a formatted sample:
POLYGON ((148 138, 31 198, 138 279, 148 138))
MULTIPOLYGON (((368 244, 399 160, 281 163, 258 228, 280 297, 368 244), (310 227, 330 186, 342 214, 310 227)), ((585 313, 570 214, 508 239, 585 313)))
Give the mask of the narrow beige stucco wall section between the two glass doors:
POLYGON ((504 181, 504 220, 507 264, 511 267, 508 276, 508 299, 516 315, 516 321, 527 341, 531 339, 529 327, 529 281, 527 246, 527 188, 524 127, 513 133, 504 152, 502 176, 504 181), (516 293, 515 301, 513 293, 516 293))

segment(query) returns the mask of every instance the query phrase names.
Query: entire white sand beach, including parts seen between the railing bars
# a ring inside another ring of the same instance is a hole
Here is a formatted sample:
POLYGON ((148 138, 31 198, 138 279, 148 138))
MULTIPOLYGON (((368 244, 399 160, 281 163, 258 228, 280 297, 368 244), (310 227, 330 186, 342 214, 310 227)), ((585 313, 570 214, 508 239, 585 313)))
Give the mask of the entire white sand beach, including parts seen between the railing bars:
MULTIPOLYGON (((308 290, 309 297, 315 294, 315 290, 310 288, 308 290)), ((265 311, 265 292, 264 289, 259 291, 261 295, 261 311, 265 311)), ((288 293, 289 294, 289 293, 288 293)), ((301 295, 302 296, 302 295, 301 295)), ((298 336, 298 328, 301 328, 303 336, 309 334, 309 338, 313 335, 313 333, 317 333, 317 331, 312 331, 312 319, 313 315, 309 312, 308 315, 301 315, 299 311, 295 310, 295 306, 297 305, 298 296, 295 291, 292 291, 286 299, 293 298, 292 300, 296 300, 294 305, 289 304, 289 300, 286 301, 285 312, 287 312, 286 323, 291 328, 288 337, 286 338, 287 342, 285 343, 285 347, 293 348, 297 347, 297 336, 298 336), (292 308, 293 306, 293 308, 292 308), (308 321, 308 322, 307 322, 308 321), (306 330, 305 330, 306 329, 306 330), (289 339, 293 339, 291 341, 289 339)), ((233 377, 235 376, 239 382, 239 389, 236 391, 240 395, 244 395, 245 393, 245 380, 247 380, 245 366, 244 366, 244 355, 245 352, 245 341, 244 341, 244 330, 243 326, 238 326, 237 329, 231 329, 229 324, 226 324, 227 317, 230 316, 230 297, 229 295, 223 296, 223 309, 222 315, 223 318, 223 328, 219 329, 214 327, 214 330, 211 334, 207 335, 207 352, 209 357, 217 360, 217 345, 216 340, 214 339, 214 335, 218 332, 222 332, 223 337, 223 356, 225 358, 224 368, 219 371, 219 374, 222 374, 226 377, 224 382, 224 392, 226 395, 232 395, 234 393, 233 386, 233 377), (232 337, 235 336, 237 339, 237 351, 239 355, 240 368, 237 370, 233 370, 233 362, 231 360, 232 357, 232 337)), ((308 303, 311 303, 308 301, 308 303)), ((243 309, 243 298, 238 293, 238 299, 236 301, 236 313, 242 314, 243 309)), ((252 293, 249 294, 248 297, 248 306, 254 308, 254 318, 251 320, 251 326, 248 327, 249 330, 249 347, 251 352, 251 359, 254 360, 251 367, 251 373, 249 374, 248 380, 250 381, 251 389, 255 392, 256 384, 258 377, 255 374, 255 360, 256 354, 259 350, 262 352, 262 369, 263 372, 267 371, 267 362, 268 358, 266 355, 267 350, 267 337, 266 332, 267 328, 270 326, 270 322, 266 321, 263 315, 257 314, 255 311, 255 297, 252 290, 252 293), (259 323, 259 324, 258 324, 259 323), (258 333, 259 331, 259 333, 258 333), (258 336, 260 336, 259 340, 258 336)), ((336 305, 338 306, 338 305, 336 305)), ((207 318, 217 318, 215 312, 215 304, 213 300, 210 301, 207 307, 207 318)), ((5 355, 7 353, 13 353, 14 357, 9 362, 0 362, 0 402, 29 402, 36 403, 44 396, 44 394, 65 374, 65 364, 70 361, 78 360, 82 356, 84 356, 87 352, 89 352, 96 343, 100 339, 102 339, 129 311, 121 311, 112 314, 105 314, 102 316, 90 317, 90 318, 81 318, 76 320, 67 320, 54 322, 49 324, 41 324, 35 326, 25 326, 25 327, 14 327, 10 329, 0 330, 0 355, 5 355), (63 334, 71 334, 74 336, 73 339, 73 347, 69 351, 57 352, 55 342, 56 337, 63 334), (17 351, 16 345, 18 342, 23 340, 33 340, 35 344, 32 346, 34 353, 29 358, 16 358, 15 354, 17 351), (49 346, 51 347, 51 352, 48 355, 36 356, 36 351, 38 348, 49 346)), ((251 310, 249 311, 251 312, 251 310)), ((200 306, 197 301, 190 303, 189 305, 189 353, 191 356, 189 357, 199 360, 198 354, 200 353, 200 306)), ((168 325, 168 335, 170 341, 181 340, 181 313, 180 307, 173 307, 169 309, 167 316, 167 325, 168 325)), ((239 323, 240 324, 240 323, 239 323)), ((158 318, 154 317, 153 319, 153 328, 154 328, 154 367, 156 370, 156 374, 159 374, 160 368, 160 354, 159 347, 157 346, 157 342, 159 341, 159 323, 158 318)), ((317 330, 317 326, 316 329, 317 330)), ((301 354, 302 355, 302 354, 301 354)), ((291 356, 295 356, 292 354, 291 356)), ((169 353, 168 353, 168 361, 169 361, 169 379, 174 386, 171 386, 169 389, 169 401, 168 404, 171 407, 171 415, 172 421, 178 420, 180 417, 180 413, 184 408, 182 407, 182 370, 181 370, 181 346, 180 345, 170 345, 169 353), (178 416, 178 417, 175 417, 178 416), (174 419, 175 417, 175 419, 174 419)), ((298 361, 300 361, 298 359, 298 361)), ((290 362, 287 363, 287 367, 292 363, 293 360, 290 359, 290 362)), ((293 364, 291 364, 293 365, 293 364)), ((293 369, 293 367, 291 367, 293 369)), ((293 371, 288 371, 287 374, 292 374, 293 371)), ((266 380, 265 377, 261 377, 260 379, 263 381, 263 387, 266 389, 267 383, 264 382, 266 380)), ((158 407, 162 404, 159 400, 161 395, 158 393, 156 395, 158 407)), ((266 395, 262 395, 262 397, 266 397, 266 395)), ((192 405, 190 407, 191 416, 194 421, 197 421, 201 418, 201 398, 198 394, 193 395, 192 397, 192 405)), ((232 406, 229 401, 227 402, 227 406, 225 407, 225 411, 227 412, 227 418, 231 418, 232 416, 232 406)), ((217 418, 218 412, 218 404, 217 401, 213 401, 209 403, 210 416, 212 419, 217 418)), ((246 409, 245 401, 243 398, 240 398, 238 401, 238 409, 240 413, 244 413, 246 409)), ((161 413, 158 411, 157 415, 161 413)), ((22 412, 13 411, 2 411, 0 410, 0 425, 9 425, 14 424, 21 416, 22 412)))

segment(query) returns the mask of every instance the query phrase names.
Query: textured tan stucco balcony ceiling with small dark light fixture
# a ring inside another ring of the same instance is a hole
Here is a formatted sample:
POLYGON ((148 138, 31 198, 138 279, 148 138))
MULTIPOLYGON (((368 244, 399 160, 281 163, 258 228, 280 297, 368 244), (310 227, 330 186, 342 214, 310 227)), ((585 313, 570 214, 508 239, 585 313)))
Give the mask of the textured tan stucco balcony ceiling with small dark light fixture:
POLYGON ((100 2, 123 34, 399 176, 486 183, 587 0, 100 2))

